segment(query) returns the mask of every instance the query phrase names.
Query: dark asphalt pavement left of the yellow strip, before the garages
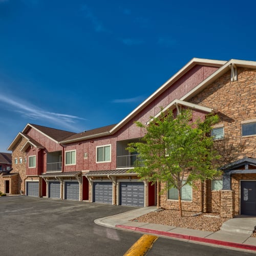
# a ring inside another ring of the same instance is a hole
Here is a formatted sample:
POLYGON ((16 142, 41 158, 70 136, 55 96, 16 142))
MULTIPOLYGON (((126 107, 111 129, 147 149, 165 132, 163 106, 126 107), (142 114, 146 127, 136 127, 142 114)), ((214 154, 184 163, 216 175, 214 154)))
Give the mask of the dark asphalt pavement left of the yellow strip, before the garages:
POLYGON ((0 255, 123 255, 139 233, 94 219, 134 207, 26 196, 0 198, 0 255), (122 242, 120 242, 122 241, 122 242))

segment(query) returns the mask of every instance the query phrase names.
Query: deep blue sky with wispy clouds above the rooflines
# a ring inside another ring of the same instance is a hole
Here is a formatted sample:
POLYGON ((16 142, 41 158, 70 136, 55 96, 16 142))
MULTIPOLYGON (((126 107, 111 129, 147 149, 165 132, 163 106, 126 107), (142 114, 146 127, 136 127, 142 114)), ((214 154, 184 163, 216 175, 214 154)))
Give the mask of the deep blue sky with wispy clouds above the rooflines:
POLYGON ((118 123, 191 58, 256 61, 254 0, 0 0, 0 152, 27 123, 118 123))

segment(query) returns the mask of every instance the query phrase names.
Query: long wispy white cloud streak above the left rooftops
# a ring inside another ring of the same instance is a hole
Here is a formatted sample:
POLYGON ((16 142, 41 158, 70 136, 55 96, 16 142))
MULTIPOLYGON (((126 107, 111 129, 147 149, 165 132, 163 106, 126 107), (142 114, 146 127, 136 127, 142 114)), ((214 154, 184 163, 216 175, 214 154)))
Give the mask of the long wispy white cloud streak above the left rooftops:
POLYGON ((74 124, 78 120, 86 120, 84 118, 66 115, 60 113, 49 112, 46 110, 42 110, 37 108, 37 106, 33 104, 29 104, 26 101, 18 98, 10 98, 7 95, 0 95, 0 103, 5 103, 4 106, 6 109, 12 112, 20 113, 22 117, 33 119, 33 120, 46 120, 51 123, 59 124, 61 126, 65 126, 69 129, 74 130, 72 124, 74 124))

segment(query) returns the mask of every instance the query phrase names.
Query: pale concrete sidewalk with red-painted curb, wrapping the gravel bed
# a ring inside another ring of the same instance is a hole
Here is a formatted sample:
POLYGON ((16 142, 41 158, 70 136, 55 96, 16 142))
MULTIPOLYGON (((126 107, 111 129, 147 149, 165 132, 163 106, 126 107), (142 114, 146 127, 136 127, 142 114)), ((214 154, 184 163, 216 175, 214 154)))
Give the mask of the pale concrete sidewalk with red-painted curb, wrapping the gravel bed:
MULTIPOLYGON (((157 234, 159 236, 247 249, 251 250, 252 252, 256 252, 256 238, 250 237, 249 233, 239 232, 239 230, 237 230, 237 232, 227 232, 225 230, 208 232, 160 224, 130 221, 134 218, 147 214, 148 212, 155 211, 156 209, 157 208, 155 206, 136 208, 135 210, 127 211, 123 214, 96 219, 94 222, 105 227, 129 229, 143 233, 157 234)), ((232 220, 234 219, 231 219, 231 222, 233 222, 232 220)), ((256 218, 254 218, 252 221, 254 220, 256 220, 256 218)))

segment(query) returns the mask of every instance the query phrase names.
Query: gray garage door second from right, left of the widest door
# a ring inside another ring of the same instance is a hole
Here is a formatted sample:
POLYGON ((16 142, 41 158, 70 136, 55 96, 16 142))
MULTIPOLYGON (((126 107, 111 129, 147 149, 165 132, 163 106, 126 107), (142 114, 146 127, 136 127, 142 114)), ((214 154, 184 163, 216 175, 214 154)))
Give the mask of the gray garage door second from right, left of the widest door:
POLYGON ((112 182, 93 183, 93 202, 112 204, 113 185, 112 182))

